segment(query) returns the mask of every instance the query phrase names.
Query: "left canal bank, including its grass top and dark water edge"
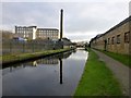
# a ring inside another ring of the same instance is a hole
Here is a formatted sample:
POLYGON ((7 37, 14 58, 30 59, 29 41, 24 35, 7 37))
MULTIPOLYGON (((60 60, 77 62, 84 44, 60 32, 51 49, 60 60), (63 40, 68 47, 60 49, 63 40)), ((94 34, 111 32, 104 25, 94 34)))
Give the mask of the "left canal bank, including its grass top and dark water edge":
POLYGON ((22 61, 27 61, 27 60, 34 60, 37 58, 45 58, 52 54, 67 52, 70 50, 73 50, 73 49, 67 48, 67 49, 59 49, 59 50, 46 50, 46 51, 33 52, 33 53, 8 54, 8 56, 0 57, 1 59, 0 61, 2 61, 2 65, 7 65, 7 64, 17 63, 22 61))

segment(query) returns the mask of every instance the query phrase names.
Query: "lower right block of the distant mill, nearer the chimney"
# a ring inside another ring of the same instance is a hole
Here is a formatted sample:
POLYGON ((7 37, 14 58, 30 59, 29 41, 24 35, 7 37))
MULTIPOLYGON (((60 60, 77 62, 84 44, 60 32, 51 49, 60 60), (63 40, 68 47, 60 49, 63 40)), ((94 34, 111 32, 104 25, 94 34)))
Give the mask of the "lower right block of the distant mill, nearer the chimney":
POLYGON ((37 38, 45 39, 58 39, 59 37, 59 29, 57 28, 37 28, 36 32, 37 38))

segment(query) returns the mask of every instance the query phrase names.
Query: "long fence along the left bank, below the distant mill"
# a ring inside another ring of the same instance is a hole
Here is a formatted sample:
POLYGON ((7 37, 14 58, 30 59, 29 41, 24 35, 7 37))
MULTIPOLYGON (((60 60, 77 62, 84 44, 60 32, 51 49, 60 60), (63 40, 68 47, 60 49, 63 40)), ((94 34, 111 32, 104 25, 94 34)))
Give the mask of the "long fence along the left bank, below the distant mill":
POLYGON ((43 50, 60 49, 60 41, 47 40, 16 40, 2 39, 2 54, 37 52, 43 50))

